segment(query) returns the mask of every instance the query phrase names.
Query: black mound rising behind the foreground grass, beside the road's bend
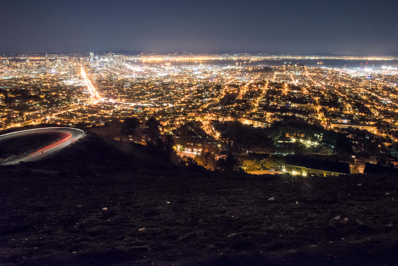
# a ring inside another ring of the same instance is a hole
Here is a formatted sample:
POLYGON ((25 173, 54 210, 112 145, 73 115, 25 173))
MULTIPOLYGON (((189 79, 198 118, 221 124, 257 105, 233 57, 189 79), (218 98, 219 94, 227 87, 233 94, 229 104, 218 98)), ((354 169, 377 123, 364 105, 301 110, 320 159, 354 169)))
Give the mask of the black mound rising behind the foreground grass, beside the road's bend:
MULTIPOLYGON (((68 172, 81 176, 80 170, 92 170, 97 174, 114 174, 117 171, 142 171, 149 168, 156 172, 158 168, 171 166, 156 148, 137 143, 112 141, 88 132, 86 137, 73 143, 67 149, 48 156, 40 162, 26 162, 26 168, 45 168, 68 172), (152 166, 158 166, 152 168, 152 166)), ((94 172, 93 172, 94 173, 94 172)))

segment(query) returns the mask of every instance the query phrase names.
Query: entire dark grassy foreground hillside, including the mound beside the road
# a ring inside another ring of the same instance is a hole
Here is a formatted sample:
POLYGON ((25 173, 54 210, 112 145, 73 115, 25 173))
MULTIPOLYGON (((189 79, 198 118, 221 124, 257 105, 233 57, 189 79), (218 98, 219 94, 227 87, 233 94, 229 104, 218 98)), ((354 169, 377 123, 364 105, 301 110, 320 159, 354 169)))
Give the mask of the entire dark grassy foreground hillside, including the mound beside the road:
POLYGON ((0 262, 374 265, 398 259, 396 177, 303 183, 194 174, 150 154, 147 147, 89 135, 40 163, 1 167, 0 262), (333 220, 337 215, 349 220, 333 220))

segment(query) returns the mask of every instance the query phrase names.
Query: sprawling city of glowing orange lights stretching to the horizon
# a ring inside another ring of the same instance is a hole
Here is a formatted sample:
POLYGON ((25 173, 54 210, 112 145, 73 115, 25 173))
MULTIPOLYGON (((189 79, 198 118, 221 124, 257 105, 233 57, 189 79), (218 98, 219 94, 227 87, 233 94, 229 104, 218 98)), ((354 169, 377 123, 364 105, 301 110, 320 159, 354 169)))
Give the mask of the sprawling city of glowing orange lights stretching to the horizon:
POLYGON ((369 64, 358 61, 351 68, 345 67, 346 60, 359 58, 316 58, 322 63, 316 66, 292 63, 297 59, 312 62, 300 56, 279 63, 275 58, 114 53, 2 58, 0 126, 102 125, 114 117, 145 119, 154 112, 164 113, 159 120, 165 125, 174 125, 182 117, 230 121, 230 113, 233 119, 261 127, 289 114, 308 123, 320 122, 325 128, 360 117, 366 124, 381 119, 396 125, 398 70, 396 61, 387 60, 392 58, 369 59, 369 64), (336 60, 344 60, 342 67, 325 66, 336 60), (261 66, 274 62, 279 65, 261 66), (275 94, 275 89, 281 93, 275 94), (225 102, 227 96, 232 97, 230 103, 225 102), (357 100, 366 112, 355 106, 357 100))

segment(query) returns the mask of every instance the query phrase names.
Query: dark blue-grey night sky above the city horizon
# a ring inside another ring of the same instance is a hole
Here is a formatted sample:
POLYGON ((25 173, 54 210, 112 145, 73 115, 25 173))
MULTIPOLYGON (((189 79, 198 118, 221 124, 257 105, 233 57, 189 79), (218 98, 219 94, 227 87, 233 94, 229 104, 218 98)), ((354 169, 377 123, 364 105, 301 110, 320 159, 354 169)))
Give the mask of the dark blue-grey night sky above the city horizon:
POLYGON ((6 0, 0 7, 0 53, 398 54, 396 0, 6 0))

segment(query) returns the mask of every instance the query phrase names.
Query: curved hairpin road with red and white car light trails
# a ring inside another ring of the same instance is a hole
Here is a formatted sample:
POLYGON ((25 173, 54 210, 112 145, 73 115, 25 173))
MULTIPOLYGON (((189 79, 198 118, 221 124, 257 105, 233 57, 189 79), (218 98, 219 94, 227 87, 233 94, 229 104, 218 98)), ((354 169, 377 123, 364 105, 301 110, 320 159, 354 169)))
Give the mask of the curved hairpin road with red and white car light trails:
POLYGON ((58 134, 61 137, 61 140, 53 143, 47 147, 43 147, 30 155, 21 155, 17 158, 7 160, 0 164, 18 164, 19 162, 27 162, 33 160, 40 160, 41 158, 55 153, 60 149, 74 143, 78 139, 84 136, 84 131, 72 127, 47 127, 47 128, 37 128, 37 129, 27 129, 17 132, 12 132, 4 135, 0 135, 0 145, 2 141, 6 141, 8 139, 14 139, 18 137, 26 137, 26 136, 35 136, 41 133, 50 133, 50 134, 58 134))

